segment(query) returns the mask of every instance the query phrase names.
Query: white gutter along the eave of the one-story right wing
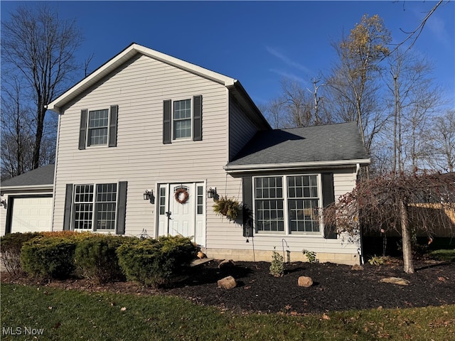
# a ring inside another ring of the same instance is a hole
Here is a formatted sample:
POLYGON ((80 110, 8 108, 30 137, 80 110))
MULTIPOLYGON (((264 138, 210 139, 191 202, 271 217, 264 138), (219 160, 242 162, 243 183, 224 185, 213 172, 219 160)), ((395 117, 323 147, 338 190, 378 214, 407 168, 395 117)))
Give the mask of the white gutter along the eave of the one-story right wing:
POLYGON ((360 164, 369 164, 370 159, 359 160, 336 160, 336 161, 316 161, 316 162, 299 162, 299 163, 264 163, 258 165, 240 165, 240 166, 224 166, 227 173, 245 173, 257 171, 291 171, 297 168, 325 168, 325 167, 352 167, 360 164))

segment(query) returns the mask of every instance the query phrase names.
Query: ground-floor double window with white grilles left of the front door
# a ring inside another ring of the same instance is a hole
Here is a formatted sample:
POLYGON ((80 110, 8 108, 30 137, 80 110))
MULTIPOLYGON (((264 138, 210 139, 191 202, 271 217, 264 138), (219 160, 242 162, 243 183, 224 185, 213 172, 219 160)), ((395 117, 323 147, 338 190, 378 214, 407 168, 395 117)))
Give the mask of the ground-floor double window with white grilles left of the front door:
POLYGON ((75 185, 74 229, 114 232, 116 214, 117 183, 75 185))

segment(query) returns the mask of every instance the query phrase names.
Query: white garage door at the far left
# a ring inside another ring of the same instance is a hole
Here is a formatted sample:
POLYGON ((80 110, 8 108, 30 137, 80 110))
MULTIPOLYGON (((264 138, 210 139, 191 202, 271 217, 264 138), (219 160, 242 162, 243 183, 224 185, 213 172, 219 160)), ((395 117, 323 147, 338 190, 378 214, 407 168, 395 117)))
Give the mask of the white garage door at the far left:
POLYGON ((52 230, 52 197, 15 197, 11 232, 52 230))

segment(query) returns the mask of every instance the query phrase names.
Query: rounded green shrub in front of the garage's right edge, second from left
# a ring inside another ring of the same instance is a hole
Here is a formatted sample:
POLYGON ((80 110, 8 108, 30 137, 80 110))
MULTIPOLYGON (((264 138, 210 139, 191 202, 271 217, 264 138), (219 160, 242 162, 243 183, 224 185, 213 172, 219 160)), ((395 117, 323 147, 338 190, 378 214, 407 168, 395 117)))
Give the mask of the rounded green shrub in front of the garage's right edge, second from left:
POLYGON ((36 237, 23 243, 22 269, 39 278, 67 278, 75 270, 75 238, 36 237))

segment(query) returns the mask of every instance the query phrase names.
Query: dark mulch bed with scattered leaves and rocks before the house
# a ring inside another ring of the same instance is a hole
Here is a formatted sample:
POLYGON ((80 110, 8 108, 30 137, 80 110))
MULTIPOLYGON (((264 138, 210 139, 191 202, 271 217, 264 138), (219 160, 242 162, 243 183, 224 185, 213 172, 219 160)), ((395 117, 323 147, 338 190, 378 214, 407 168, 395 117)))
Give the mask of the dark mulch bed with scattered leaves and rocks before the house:
POLYGON ((44 285, 86 291, 164 294, 187 298, 201 305, 213 305, 236 313, 289 313, 299 315, 335 310, 370 308, 412 308, 455 304, 455 263, 416 261, 415 274, 405 274, 400 261, 382 266, 365 264, 363 270, 338 264, 285 264, 285 274, 269 274, 268 262, 235 262, 235 266, 218 269, 220 261, 194 266, 179 281, 167 288, 152 289, 137 283, 118 282, 93 285, 86 280, 40 283, 33 278, 14 278, 2 273, 1 281, 44 285), (233 276, 237 287, 218 288, 217 281, 233 276), (299 276, 310 276, 309 288, 297 286, 299 276), (382 283, 382 278, 400 277, 407 286, 382 283))

